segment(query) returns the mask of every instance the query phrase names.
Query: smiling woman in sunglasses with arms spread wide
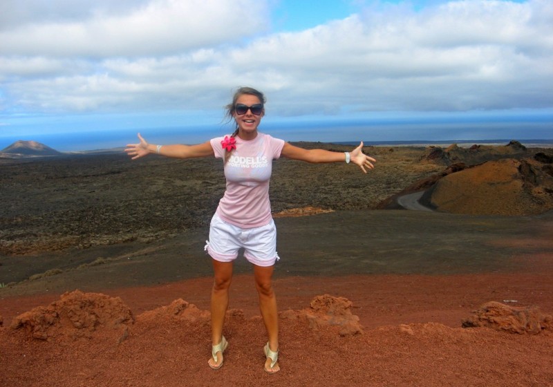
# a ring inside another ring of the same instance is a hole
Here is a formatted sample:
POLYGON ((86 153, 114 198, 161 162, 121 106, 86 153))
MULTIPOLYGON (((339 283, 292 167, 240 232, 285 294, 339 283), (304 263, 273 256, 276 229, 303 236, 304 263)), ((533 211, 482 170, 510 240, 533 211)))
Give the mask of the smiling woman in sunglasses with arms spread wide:
POLYGON ((153 145, 140 133, 138 144, 129 144, 126 153, 132 159, 158 153, 171 158, 215 156, 225 162, 227 187, 209 228, 205 249, 212 256, 214 284, 211 296, 212 357, 209 367, 223 366, 223 352, 227 341, 223 337, 223 323, 229 304, 229 286, 232 280, 232 262, 238 249, 244 248, 245 258, 253 264, 254 280, 259 294, 259 308, 268 334, 265 353, 265 371, 280 370, 279 324, 277 299, 272 288, 272 274, 277 256, 277 233, 271 216, 269 180, 272 160, 281 156, 306 162, 353 162, 364 173, 373 169, 376 160, 364 155, 363 143, 351 153, 323 149, 302 149, 288 142, 272 138, 258 131, 265 115, 265 97, 254 88, 239 88, 232 103, 227 105, 229 120, 236 122, 236 131, 224 138, 214 138, 196 145, 153 145))

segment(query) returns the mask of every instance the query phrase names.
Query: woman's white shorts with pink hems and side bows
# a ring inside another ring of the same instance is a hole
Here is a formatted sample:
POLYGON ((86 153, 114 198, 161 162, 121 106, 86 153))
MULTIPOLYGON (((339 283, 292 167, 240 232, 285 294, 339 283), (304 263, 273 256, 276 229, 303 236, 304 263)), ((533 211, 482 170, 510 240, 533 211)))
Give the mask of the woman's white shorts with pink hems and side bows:
POLYGON ((216 261, 232 262, 238 257, 238 249, 244 248, 245 258, 258 266, 272 266, 277 255, 277 227, 274 221, 268 225, 243 229, 225 222, 215 214, 209 226, 209 241, 205 250, 216 261))

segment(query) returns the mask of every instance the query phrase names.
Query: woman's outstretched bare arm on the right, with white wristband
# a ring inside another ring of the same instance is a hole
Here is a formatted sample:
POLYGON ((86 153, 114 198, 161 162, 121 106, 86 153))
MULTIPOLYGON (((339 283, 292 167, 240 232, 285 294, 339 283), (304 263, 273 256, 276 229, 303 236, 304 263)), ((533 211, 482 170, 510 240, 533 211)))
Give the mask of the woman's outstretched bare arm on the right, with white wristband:
MULTIPOLYGON (((374 158, 364 154, 363 142, 359 144, 359 147, 350 152, 350 160, 353 164, 359 165, 364 173, 367 173, 366 169, 373 169, 375 166, 373 162, 376 162, 374 158)), ((344 162, 346 161, 346 155, 344 152, 332 152, 324 149, 303 149, 300 147, 294 147, 294 145, 285 142, 281 151, 281 155, 285 158, 291 158, 292 160, 301 160, 306 162, 344 162)))

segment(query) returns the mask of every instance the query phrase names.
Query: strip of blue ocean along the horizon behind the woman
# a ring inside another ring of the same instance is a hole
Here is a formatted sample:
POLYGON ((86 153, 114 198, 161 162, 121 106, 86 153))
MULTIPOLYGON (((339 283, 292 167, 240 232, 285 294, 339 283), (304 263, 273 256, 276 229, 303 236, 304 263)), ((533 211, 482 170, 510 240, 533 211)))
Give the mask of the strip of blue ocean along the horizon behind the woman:
MULTIPOLYGON (((436 145, 447 147, 458 144, 460 147, 470 147, 473 144, 508 144, 517 140, 526 147, 553 147, 553 131, 513 130, 480 130, 471 127, 469 130, 452 130, 448 126, 434 128, 432 126, 401 128, 379 128, 371 126, 277 126, 264 125, 260 131, 286 141, 297 142, 332 142, 357 145, 363 141, 365 145, 402 146, 402 145, 436 145), (529 135, 534 135, 530 138, 529 135)), ((71 133, 39 133, 35 135, 0 136, 0 151, 18 140, 40 142, 60 152, 82 152, 104 149, 124 148, 126 144, 138 142, 136 133, 153 144, 198 144, 210 138, 232 132, 232 128, 214 126, 196 126, 189 128, 148 128, 102 131, 75 131, 71 133)))

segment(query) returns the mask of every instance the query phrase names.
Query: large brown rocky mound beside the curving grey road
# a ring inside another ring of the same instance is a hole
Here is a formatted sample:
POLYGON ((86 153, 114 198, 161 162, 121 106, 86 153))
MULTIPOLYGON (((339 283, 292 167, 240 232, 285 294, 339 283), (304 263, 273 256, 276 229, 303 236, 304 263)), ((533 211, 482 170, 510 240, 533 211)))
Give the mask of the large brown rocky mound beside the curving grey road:
POLYGON ((532 158, 505 158, 451 173, 421 199, 456 214, 532 215, 553 209, 553 176, 532 158))

